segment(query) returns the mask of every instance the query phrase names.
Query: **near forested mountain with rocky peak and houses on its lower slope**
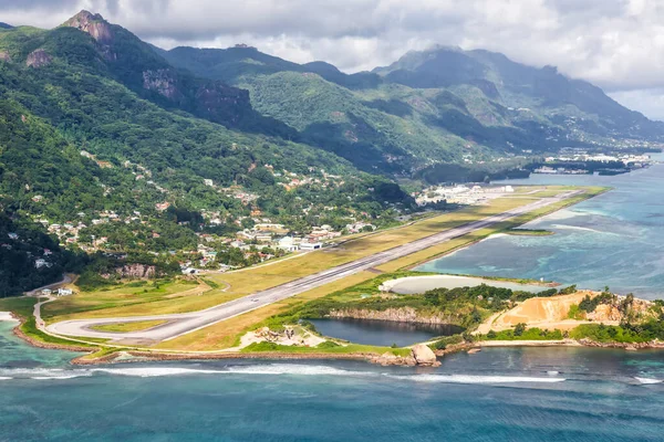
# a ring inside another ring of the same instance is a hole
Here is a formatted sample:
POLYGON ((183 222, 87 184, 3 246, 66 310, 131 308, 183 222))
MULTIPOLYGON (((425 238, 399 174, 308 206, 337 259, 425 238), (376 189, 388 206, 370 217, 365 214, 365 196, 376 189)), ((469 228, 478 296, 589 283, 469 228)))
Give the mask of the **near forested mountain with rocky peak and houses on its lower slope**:
POLYGON ((388 179, 291 134, 246 91, 170 65, 100 15, 0 32, 0 235, 22 229, 7 245, 31 263, 6 287, 15 256, 0 250, 0 296, 82 264, 108 273, 108 255, 173 269, 199 234, 230 239, 257 215, 307 232, 412 207, 388 179))

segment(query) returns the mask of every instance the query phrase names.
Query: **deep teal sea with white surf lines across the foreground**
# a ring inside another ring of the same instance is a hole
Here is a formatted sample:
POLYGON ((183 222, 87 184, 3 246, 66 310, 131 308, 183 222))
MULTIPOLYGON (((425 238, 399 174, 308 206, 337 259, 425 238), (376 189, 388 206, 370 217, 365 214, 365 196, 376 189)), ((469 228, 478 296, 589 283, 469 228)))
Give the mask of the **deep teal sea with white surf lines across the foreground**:
POLYGON ((4 335, 0 441, 629 442, 661 441, 664 428, 664 385, 635 379, 664 379, 657 352, 490 349, 435 369, 256 360, 76 368, 63 362, 70 355, 25 347, 19 357, 31 361, 20 368, 4 335))

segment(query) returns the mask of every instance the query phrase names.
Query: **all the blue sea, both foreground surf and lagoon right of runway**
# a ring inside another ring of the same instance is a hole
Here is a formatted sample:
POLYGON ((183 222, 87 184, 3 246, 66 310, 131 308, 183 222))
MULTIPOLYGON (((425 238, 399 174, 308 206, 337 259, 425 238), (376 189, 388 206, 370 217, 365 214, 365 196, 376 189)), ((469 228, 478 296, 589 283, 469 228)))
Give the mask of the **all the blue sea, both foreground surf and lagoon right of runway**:
MULTIPOLYGON (((424 270, 664 291, 664 166, 520 183, 613 191, 424 270)), ((437 368, 206 360, 73 366, 0 322, 0 441, 664 440, 664 352, 489 348, 437 368)), ((394 330, 388 330, 393 333, 394 330)))

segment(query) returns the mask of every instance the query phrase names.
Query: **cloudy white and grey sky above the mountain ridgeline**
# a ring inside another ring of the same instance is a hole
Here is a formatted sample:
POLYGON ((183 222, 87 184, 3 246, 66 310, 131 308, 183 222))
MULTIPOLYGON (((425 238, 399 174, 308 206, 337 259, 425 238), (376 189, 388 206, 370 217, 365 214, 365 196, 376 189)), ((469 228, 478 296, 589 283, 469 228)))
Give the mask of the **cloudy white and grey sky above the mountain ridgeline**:
POLYGON ((355 72, 440 43, 557 65, 619 101, 664 90, 661 0, 3 0, 0 21, 51 28, 84 8, 166 48, 243 42, 355 72))

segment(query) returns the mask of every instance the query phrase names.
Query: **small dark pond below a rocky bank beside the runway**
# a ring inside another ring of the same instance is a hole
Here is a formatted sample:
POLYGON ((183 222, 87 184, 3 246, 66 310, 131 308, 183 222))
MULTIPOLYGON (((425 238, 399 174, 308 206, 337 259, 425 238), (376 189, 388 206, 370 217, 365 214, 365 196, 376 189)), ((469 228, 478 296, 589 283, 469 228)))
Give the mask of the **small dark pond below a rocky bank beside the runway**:
POLYGON ((396 323, 374 319, 309 319, 321 335, 355 344, 406 347, 464 329, 455 325, 396 323))

